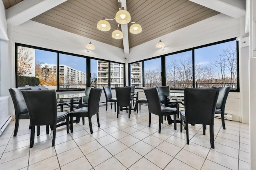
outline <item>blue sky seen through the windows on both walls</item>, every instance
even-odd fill
[[[223,49],[226,49],[228,46],[236,46],[236,41],[229,41],[226,43],[221,43],[217,45],[212,45],[209,47],[204,47],[195,50],[195,61],[201,61],[202,63],[209,63],[210,59],[213,59],[220,53]],[[40,61],[42,64],[57,64],[57,53],[50,51],[43,51],[36,49],[36,61]],[[168,59],[181,59],[184,56],[192,56],[192,51],[187,51],[184,53],[178,53],[166,57],[166,64],[168,64]],[[145,61],[145,70],[147,69],[156,69],[161,68],[161,59],[153,59]],[[60,54],[60,64],[65,64],[76,70],[86,73],[86,58],[76,57],[71,55]],[[97,72],[97,60],[91,60],[91,72]]]

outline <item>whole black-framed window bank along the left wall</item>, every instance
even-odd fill
[[[125,69],[122,63],[19,43],[15,43],[15,49],[16,87],[41,85],[56,90],[81,90],[86,85],[124,86]]]

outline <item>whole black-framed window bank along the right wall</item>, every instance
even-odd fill
[[[130,63],[129,68],[131,85],[137,88],[166,85],[181,90],[184,87],[230,86],[231,92],[239,92],[238,42],[235,38]]]

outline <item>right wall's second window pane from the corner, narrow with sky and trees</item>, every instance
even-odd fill
[[[161,58],[144,61],[145,87],[162,86]]]

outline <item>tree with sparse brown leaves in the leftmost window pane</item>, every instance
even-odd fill
[[[29,48],[18,46],[18,76],[32,74],[32,61],[33,57]]]

